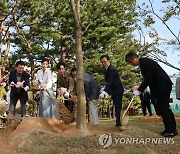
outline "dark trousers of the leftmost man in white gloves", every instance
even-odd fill
[[[23,96],[23,94],[16,94],[13,96],[13,98],[10,98],[9,111],[15,116],[16,104],[18,100],[20,100],[20,105],[21,105],[21,117],[25,117],[27,99]]]

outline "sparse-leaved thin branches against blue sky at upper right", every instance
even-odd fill
[[[147,3],[142,3],[142,5],[137,5],[138,13],[139,13],[139,22],[136,25],[137,30],[139,31],[140,39],[138,41],[141,44],[141,51],[143,51],[143,55],[147,55],[150,58],[164,63],[167,66],[170,66],[176,70],[179,70],[179,67],[176,67],[169,63],[166,60],[166,53],[162,51],[162,46],[166,49],[172,49],[179,51],[180,44],[180,31],[176,33],[173,31],[173,28],[168,25],[168,21],[171,19],[176,19],[177,22],[179,19],[179,2],[174,0],[162,0],[162,5],[160,8],[160,12],[162,15],[159,15],[153,6],[153,2],[148,0]],[[168,40],[167,38],[161,38],[158,35],[158,32],[153,25],[155,23],[155,18],[161,21],[162,26],[164,25],[167,30],[172,34],[174,39]],[[148,31],[148,35],[152,38],[153,42],[146,42],[145,31]]]

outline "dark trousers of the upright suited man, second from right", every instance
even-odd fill
[[[112,96],[112,100],[115,106],[116,126],[121,126],[122,94]]]

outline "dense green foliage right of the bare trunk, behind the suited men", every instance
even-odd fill
[[[135,1],[93,1],[87,4],[83,16],[84,32],[84,66],[102,85],[105,83],[100,56],[109,54],[111,63],[120,72],[126,89],[138,83],[136,74],[124,60],[125,54],[140,49],[140,45],[132,40],[132,32],[136,23]],[[85,7],[83,8],[85,9]],[[88,10],[92,11],[89,12]]]

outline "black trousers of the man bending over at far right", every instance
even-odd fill
[[[176,130],[176,120],[172,110],[169,108],[169,96],[153,98],[155,110],[162,116],[165,131],[173,133]]]

